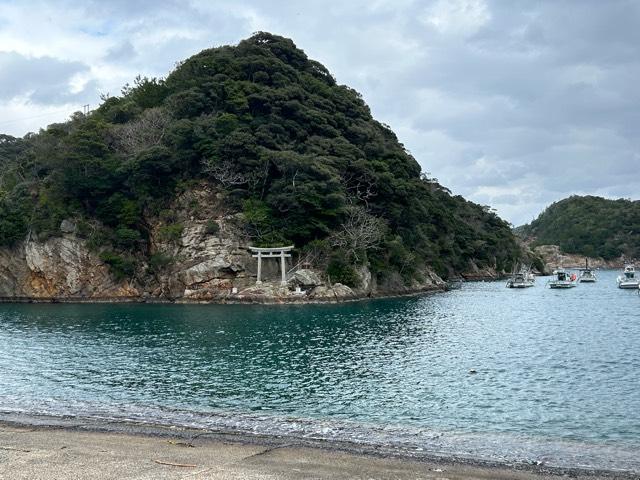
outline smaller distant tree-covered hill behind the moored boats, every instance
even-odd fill
[[[572,196],[550,205],[517,232],[534,245],[558,245],[565,253],[640,258],[640,202]]]

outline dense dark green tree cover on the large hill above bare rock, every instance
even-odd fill
[[[78,235],[120,275],[152,255],[149,219],[206,183],[258,245],[295,244],[349,283],[352,266],[406,281],[510,269],[519,248],[488,207],[421,173],[355,90],[286,38],[204,50],[163,79],[138,78],[88,115],[0,138],[0,244]],[[169,212],[170,213],[170,212]],[[352,281],[352,280],[351,280]]]

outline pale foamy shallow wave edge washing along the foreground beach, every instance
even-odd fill
[[[552,472],[640,473],[637,449],[557,441],[524,435],[434,432],[354,422],[159,410],[92,415],[0,411],[0,423],[143,435],[208,436],[240,443],[312,446],[413,460],[544,468]]]

